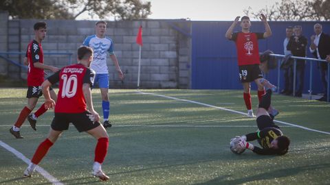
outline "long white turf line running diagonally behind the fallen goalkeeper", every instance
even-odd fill
[[[234,112],[234,113],[237,113],[237,114],[243,114],[245,116],[247,115],[244,112],[239,112],[239,111],[236,111],[236,110],[230,110],[228,108],[221,108],[221,107],[217,107],[217,106],[212,106],[210,104],[201,103],[201,102],[198,102],[198,101],[191,101],[191,100],[188,100],[188,99],[179,99],[179,98],[176,98],[176,97],[168,97],[166,95],[157,95],[155,93],[145,93],[145,92],[142,92],[140,90],[137,90],[136,92],[137,93],[140,93],[142,95],[153,95],[153,96],[156,96],[156,97],[164,97],[164,98],[167,98],[167,99],[175,99],[177,101],[186,101],[188,103],[195,103],[195,104],[199,104],[201,106],[206,106],[206,107],[210,107],[210,108],[216,108],[216,109],[220,109],[220,110],[226,110],[228,112]],[[296,124],[292,124],[292,123],[287,123],[287,122],[284,122],[284,121],[274,120],[274,122],[276,122],[276,123],[282,123],[284,125],[290,125],[290,126],[293,126],[293,127],[298,127],[298,128],[303,129],[303,130],[309,130],[309,131],[313,131],[313,132],[319,132],[319,133],[322,133],[322,134],[329,134],[330,135],[330,132],[324,132],[324,131],[320,131],[320,130],[315,130],[315,129],[311,129],[309,127],[303,127],[303,126],[300,126],[300,125],[296,125]]]

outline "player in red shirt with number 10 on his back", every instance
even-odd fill
[[[36,165],[41,162],[62,132],[69,128],[69,123],[73,123],[78,132],[87,132],[98,140],[95,149],[93,175],[99,177],[100,180],[109,180],[109,177],[101,169],[101,164],[107,156],[109,136],[99,122],[98,112],[93,108],[91,86],[94,83],[95,72],[89,69],[92,60],[93,49],[86,46],[80,47],[78,49],[78,64],[65,66],[43,82],[45,107],[55,107],[55,116],[50,134],[36,149],[28,168],[24,171],[25,177],[31,177]],[[50,97],[49,88],[56,82],[59,82],[59,91],[55,105],[55,101]]]

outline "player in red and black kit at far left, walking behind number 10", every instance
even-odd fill
[[[45,80],[44,69],[48,69],[54,73],[59,70],[55,66],[43,64],[43,48],[41,47],[41,42],[45,38],[46,32],[47,25],[45,22],[38,22],[34,24],[34,40],[29,43],[26,58],[24,59],[24,63],[28,64],[28,92],[26,94],[28,104],[23,108],[23,110],[21,110],[16,123],[10,128],[10,133],[14,135],[15,138],[23,138],[20,134],[21,125],[23,125],[25,119],[35,108],[39,97],[42,95],[41,84]],[[54,90],[50,91],[50,95],[56,100],[56,93]],[[46,111],[47,109],[45,108],[45,104],[43,104],[34,113],[35,120],[30,120],[29,118],[29,122],[33,130],[36,130],[36,117],[41,116],[41,114]]]

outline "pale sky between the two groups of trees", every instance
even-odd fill
[[[153,19],[190,18],[191,21],[232,21],[249,6],[254,12],[280,0],[142,0],[151,1]],[[253,17],[251,17],[254,20]]]

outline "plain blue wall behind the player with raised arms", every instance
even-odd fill
[[[310,36],[314,34],[314,24],[317,22],[289,22],[274,21],[269,22],[272,29],[272,36],[265,40],[259,40],[259,51],[267,49],[277,54],[283,54],[283,40],[285,38],[285,28],[289,25],[301,25],[303,35],[310,42]],[[225,38],[225,32],[232,24],[232,21],[192,22],[192,88],[194,89],[242,89],[239,82],[239,70],[237,66],[236,47],[234,42]],[[330,22],[322,22],[323,32],[330,33]],[[241,31],[237,25],[234,32]],[[261,21],[252,21],[252,32],[265,32],[265,26]],[[310,43],[308,43],[309,47]],[[313,58],[307,47],[307,57]],[[313,93],[321,93],[322,84],[320,75],[316,67],[313,66]],[[309,89],[309,69],[307,63],[305,69],[304,92]],[[277,84],[277,71],[272,70],[267,74],[267,79]],[[280,84],[283,86],[283,71],[281,71]],[[252,83],[252,89],[256,89]]]

